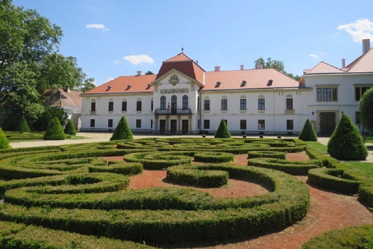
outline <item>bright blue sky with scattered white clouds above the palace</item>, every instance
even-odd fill
[[[181,52],[205,71],[254,68],[282,60],[302,75],[320,61],[341,66],[373,44],[371,0],[13,0],[64,32],[60,53],[74,56],[101,85],[136,71],[157,73]]]

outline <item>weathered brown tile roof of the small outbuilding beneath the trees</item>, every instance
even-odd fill
[[[62,88],[45,89],[43,96],[47,99],[43,104],[47,107],[82,108],[81,93],[80,91],[73,90],[67,92]]]

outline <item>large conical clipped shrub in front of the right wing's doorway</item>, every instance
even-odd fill
[[[342,114],[329,139],[328,152],[338,160],[365,160],[368,156],[367,146],[348,115]]]

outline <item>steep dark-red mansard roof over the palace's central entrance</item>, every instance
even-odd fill
[[[203,83],[204,70],[184,53],[179,53],[170,59],[165,60],[159,69],[156,79],[162,77],[172,69],[176,69],[177,71],[186,74],[190,78]]]

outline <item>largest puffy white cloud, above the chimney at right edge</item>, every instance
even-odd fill
[[[373,22],[367,18],[361,18],[349,24],[339,25],[338,29],[349,33],[354,42],[360,43],[362,39],[373,39]]]

